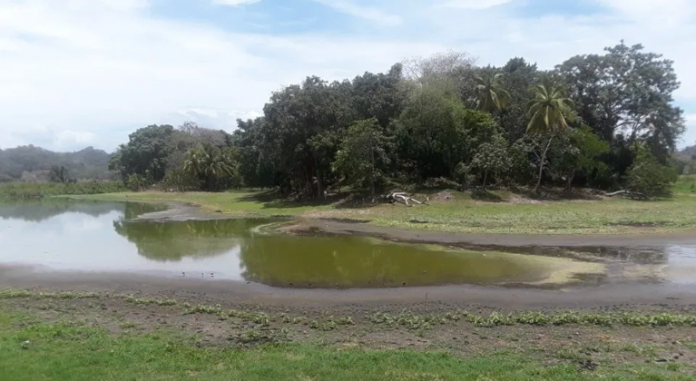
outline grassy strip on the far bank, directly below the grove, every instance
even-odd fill
[[[268,193],[112,193],[86,196],[97,200],[182,202],[237,217],[299,216],[369,221],[381,227],[423,229],[474,234],[645,234],[696,229],[696,193],[689,179],[675,186],[673,198],[634,201],[534,201],[509,191],[491,192],[496,200],[451,191],[454,199],[432,201],[408,208],[389,204],[290,202]],[[490,200],[491,197],[487,197]]]

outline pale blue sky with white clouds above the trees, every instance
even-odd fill
[[[696,0],[0,0],[0,148],[113,151],[149,124],[233,131],[308,75],[465,51],[543,69],[624,39],[675,61],[696,143]]]

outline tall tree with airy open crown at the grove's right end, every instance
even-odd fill
[[[578,115],[612,146],[619,136],[626,147],[647,142],[665,164],[684,132],[683,111],[673,105],[672,94],[679,88],[673,62],[623,41],[605,51],[575,56],[556,67]]]

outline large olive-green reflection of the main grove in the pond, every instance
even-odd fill
[[[353,237],[263,236],[244,240],[240,250],[244,278],[272,286],[309,288],[491,283],[543,277],[542,269],[516,258],[374,244]]]

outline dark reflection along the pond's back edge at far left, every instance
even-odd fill
[[[124,204],[109,202],[75,201],[68,199],[0,205],[0,218],[41,222],[65,213],[81,213],[99,217],[124,210]]]

